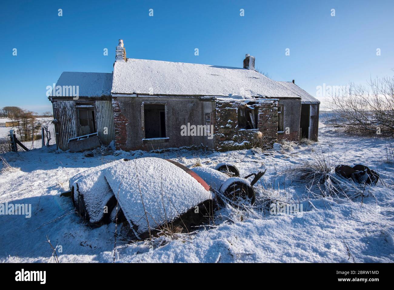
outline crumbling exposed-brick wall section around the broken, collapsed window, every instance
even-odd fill
[[[258,108],[256,129],[238,127],[238,109],[243,106],[246,106],[245,103],[239,101],[216,101],[215,150],[249,149],[255,145],[271,147],[277,140],[278,100],[261,100],[260,104],[254,105]]]

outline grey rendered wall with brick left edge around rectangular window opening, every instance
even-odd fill
[[[143,130],[143,105],[160,103],[165,105],[166,138],[147,139]],[[117,149],[126,151],[151,151],[204,145],[214,147],[214,138],[208,136],[181,136],[182,125],[206,125],[206,113],[214,118],[215,102],[200,100],[199,97],[138,96],[115,97],[112,100]]]

